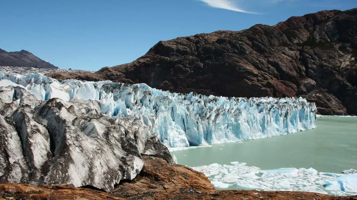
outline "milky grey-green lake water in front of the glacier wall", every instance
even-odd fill
[[[190,167],[213,163],[231,165],[231,162],[238,161],[261,170],[314,168],[318,172],[341,174],[343,170],[357,169],[357,117],[321,117],[317,118],[316,125],[313,130],[177,150],[171,154],[175,154],[178,164]],[[228,172],[231,170],[227,169]],[[215,170],[219,171],[219,168]],[[216,176],[219,175],[222,174]],[[209,178],[214,181],[213,175]],[[233,184],[216,188],[244,189]]]

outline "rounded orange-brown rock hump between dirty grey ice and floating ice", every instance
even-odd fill
[[[169,165],[165,160],[157,157],[144,156],[144,166],[135,180],[121,183],[112,194],[122,198],[149,198],[154,194],[180,193],[180,190],[200,191],[214,190],[210,180],[198,171],[183,165]],[[167,189],[164,188],[167,186]],[[155,195],[155,196],[156,196]],[[165,199],[164,196],[161,198]]]

